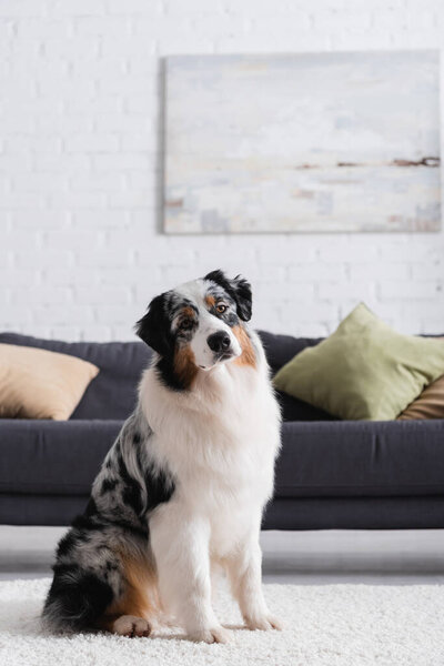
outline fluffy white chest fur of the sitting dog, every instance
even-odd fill
[[[265,362],[259,361],[258,369],[233,363],[200,373],[185,394],[164,389],[154,370],[140,387],[155,456],[176,480],[173,500],[154,519],[202,517],[216,556],[261,519],[273,491],[280,413]]]

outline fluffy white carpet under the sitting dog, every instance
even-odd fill
[[[230,645],[193,644],[172,630],[150,638],[48,636],[39,614],[49,579],[0,584],[4,666],[440,666],[444,586],[266,585],[283,632],[233,630]],[[240,622],[225,593],[222,622]]]

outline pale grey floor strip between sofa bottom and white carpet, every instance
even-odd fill
[[[49,576],[64,528],[0,526],[0,579]],[[266,583],[444,584],[444,529],[263,532]]]

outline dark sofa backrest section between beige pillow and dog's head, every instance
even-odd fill
[[[18,333],[0,333],[0,343],[33,346],[78,356],[100,369],[72,418],[127,418],[151,351],[143,342],[61,342]]]

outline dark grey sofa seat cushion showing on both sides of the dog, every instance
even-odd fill
[[[121,425],[0,421],[0,493],[88,495]],[[284,423],[275,495],[444,495],[443,441],[444,421]]]

